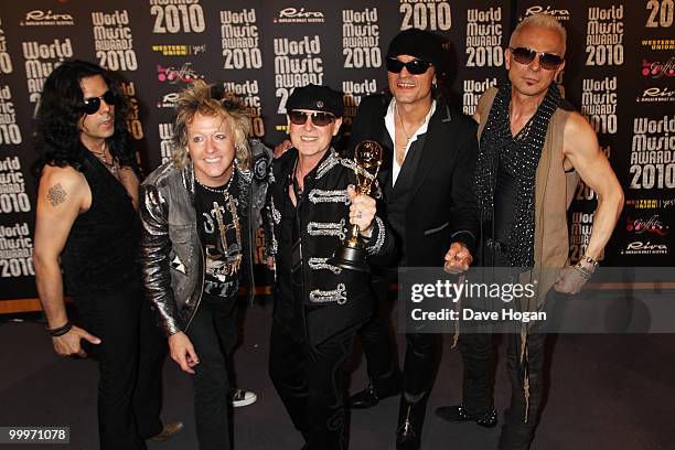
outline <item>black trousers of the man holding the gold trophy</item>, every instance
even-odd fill
[[[354,333],[330,339],[315,349],[272,324],[269,375],[309,450],[345,450],[349,418],[345,407],[345,363]]]

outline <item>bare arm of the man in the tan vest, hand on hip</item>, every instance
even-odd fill
[[[623,191],[600,150],[593,129],[579,114],[572,114],[565,126],[562,152],[566,169],[574,167],[581,180],[598,194],[598,207],[586,249],[586,256],[598,260],[623,208]],[[581,261],[581,265],[593,269],[588,262]],[[560,292],[577,293],[585,281],[572,267],[568,267],[560,274],[555,288]]]

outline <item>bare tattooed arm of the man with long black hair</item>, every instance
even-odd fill
[[[63,326],[68,321],[58,258],[73,223],[90,202],[92,192],[82,173],[73,168],[44,168],[38,191],[33,261],[35,285],[50,329]],[[73,326],[68,333],[53,338],[54,350],[61,355],[84,356],[79,345],[82,338],[97,343],[97,339],[86,331]]]

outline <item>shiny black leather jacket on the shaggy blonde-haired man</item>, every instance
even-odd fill
[[[257,153],[256,154],[256,146]],[[248,270],[248,292],[253,294],[253,233],[265,206],[271,172],[271,154],[254,144],[253,170],[237,170],[239,197],[237,213],[244,233],[243,255]],[[154,170],[141,184],[140,215],[143,225],[141,264],[146,296],[157,311],[165,335],[185,331],[202,298],[204,285],[203,245],[197,233],[194,208],[194,168],[179,169],[169,161]],[[253,218],[251,218],[253,217]],[[271,217],[262,214],[266,256],[276,253]]]

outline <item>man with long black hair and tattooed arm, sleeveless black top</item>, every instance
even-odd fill
[[[56,353],[85,357],[86,346],[96,347],[103,450],[144,449],[144,439],[182,428],[159,418],[167,351],[137,262],[139,182],[127,113],[111,74],[84,61],[52,72],[38,111],[35,282]],[[85,328],[68,319],[64,281]]]

